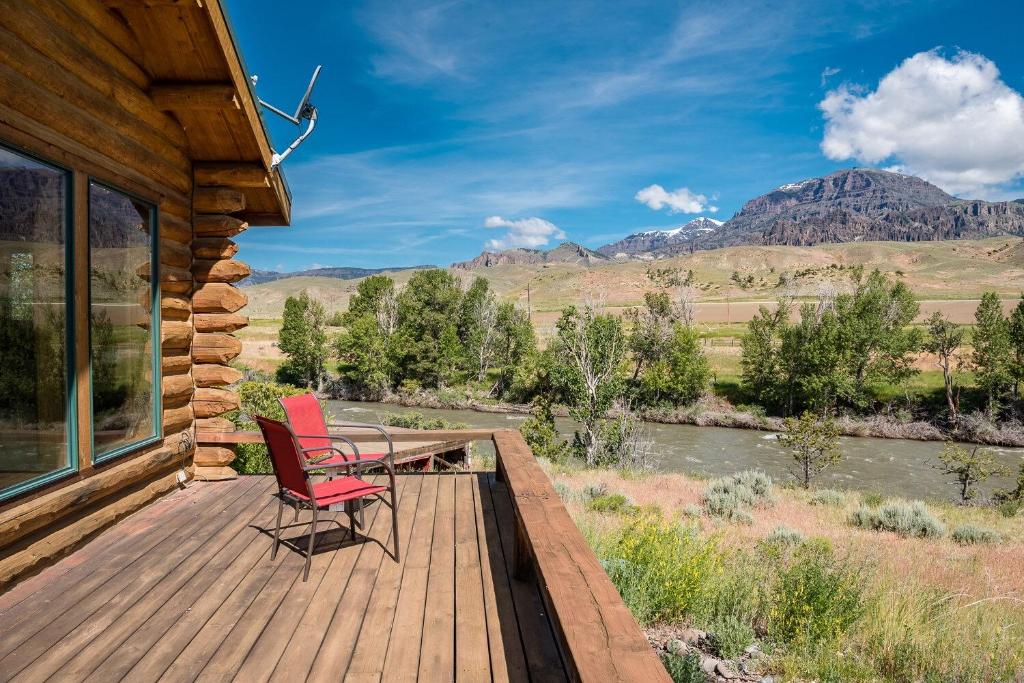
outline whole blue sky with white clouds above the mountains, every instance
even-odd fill
[[[257,268],[597,247],[850,166],[1024,197],[1020,2],[226,5],[264,99],[324,65],[292,227],[239,238]]]

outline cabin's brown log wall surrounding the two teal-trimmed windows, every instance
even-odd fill
[[[195,451],[193,163],[182,126],[151,98],[139,45],[99,3],[0,0],[0,140],[74,174],[80,470],[0,504],[0,587],[173,488]],[[158,207],[164,438],[102,464],[89,433],[89,178]],[[211,245],[212,246],[212,245]],[[211,252],[203,252],[204,263]],[[218,252],[219,254],[220,252]],[[226,282],[220,266],[202,266]],[[237,323],[237,321],[236,321]],[[209,382],[204,376],[204,383]],[[206,384],[204,385],[206,386]]]

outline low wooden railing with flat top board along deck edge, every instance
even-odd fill
[[[369,441],[367,430],[333,432]],[[671,683],[548,475],[518,431],[511,429],[389,430],[394,443],[494,441],[497,476],[515,512],[515,566],[534,578],[547,604],[565,668],[587,683]],[[199,443],[258,443],[258,432],[200,432]]]

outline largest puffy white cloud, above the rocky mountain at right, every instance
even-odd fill
[[[818,106],[829,159],[888,162],[962,196],[997,195],[1024,175],[1024,97],[983,55],[920,52],[873,92],[843,85]]]

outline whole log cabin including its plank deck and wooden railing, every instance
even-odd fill
[[[401,563],[270,558],[232,238],[291,196],[220,0],[0,0],[0,680],[668,680],[518,432],[394,435],[498,460],[399,477]]]

